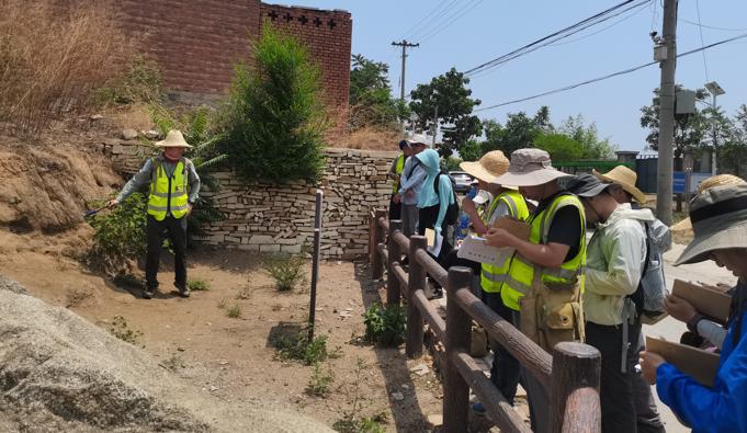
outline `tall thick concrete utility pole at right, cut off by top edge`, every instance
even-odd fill
[[[671,225],[672,172],[675,164],[675,70],[677,68],[677,0],[664,0],[664,46],[659,84],[659,159],[656,189],[656,216]]]

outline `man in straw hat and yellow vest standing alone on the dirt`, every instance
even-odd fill
[[[148,195],[148,247],[145,263],[146,287],[143,297],[150,299],[158,289],[158,264],[161,244],[168,233],[174,253],[176,278],[173,285],[181,297],[189,297],[186,287],[186,216],[200,194],[200,176],[194,164],[184,158],[184,150],[192,148],[179,130],[170,130],[166,139],[156,143],[163,151],[148,158],[137,174],[109,202],[118,205],[127,196],[146,185]]]

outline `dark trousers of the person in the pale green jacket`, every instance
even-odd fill
[[[629,338],[623,349],[623,326],[603,326],[586,322],[586,343],[602,354],[600,402],[603,433],[635,433],[636,412],[633,396],[635,363],[633,352],[638,345],[641,324],[629,324]],[[625,350],[626,373],[622,373]]]

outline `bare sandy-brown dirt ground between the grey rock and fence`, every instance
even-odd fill
[[[398,432],[428,431],[426,418],[441,413],[441,386],[429,357],[408,361],[403,347],[361,342],[361,315],[385,296],[370,281],[366,264],[330,262],[320,267],[317,333],[329,335],[328,349],[338,349],[339,356],[324,363],[333,371],[335,381],[331,395],[319,398],[305,392],[313,367],[275,360],[269,343],[272,333],[304,326],[307,290],[278,293],[249,253],[201,250],[189,258],[189,275],[208,282],[208,292],[181,299],[172,292],[172,273],[162,270],[160,294],[145,300],[138,289],[122,289],[69,257],[87,237],[84,228],[55,236],[0,229],[0,274],[101,327],[110,328],[113,318],[122,316],[128,329],[143,332],[136,344],[161,360],[165,368],[226,401],[288,404],[331,426],[353,411],[358,398],[355,415],[384,412],[386,430]],[[226,315],[234,305],[241,308],[238,319]],[[362,369],[356,367],[359,358]],[[411,372],[421,364],[428,373]]]

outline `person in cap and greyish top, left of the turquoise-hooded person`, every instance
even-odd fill
[[[405,161],[397,195],[401,203],[403,233],[408,238],[418,231],[418,194],[427,174],[416,156],[428,148],[427,141],[428,139],[420,134],[403,140],[410,148],[411,156]]]

